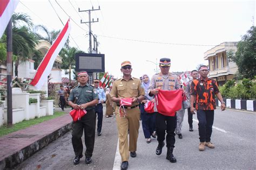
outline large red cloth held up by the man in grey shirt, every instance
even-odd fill
[[[181,109],[183,91],[159,90],[156,95],[157,111],[165,116],[175,116],[175,112]]]

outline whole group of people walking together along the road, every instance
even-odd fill
[[[113,82],[112,88],[105,90],[99,87],[98,79],[93,80],[90,85],[87,72],[79,72],[79,84],[71,90],[68,101],[73,109],[84,110],[86,114],[72,123],[72,145],[75,152],[73,164],[79,164],[80,158],[83,157],[83,131],[86,145],[85,162],[91,162],[96,117],[97,134],[102,135],[103,103],[106,103],[105,117],[114,115],[116,118],[119,152],[122,158],[121,169],[127,169],[129,158],[137,156],[140,119],[146,143],[151,143],[151,137],[157,138],[157,155],[162,153],[166,143],[166,159],[172,163],[177,162],[174,157],[176,134],[179,139],[183,139],[181,127],[186,109],[190,132],[193,132],[193,115],[197,114],[199,151],[204,151],[205,146],[214,148],[211,134],[216,109],[215,95],[221,102],[221,110],[226,107],[217,82],[207,77],[207,66],[200,66],[199,70],[192,70],[192,80],[183,87],[178,76],[170,73],[170,67],[171,59],[162,58],[159,61],[160,73],[153,75],[151,79],[147,74],[137,79],[131,76],[131,62],[124,61],[120,68],[123,76]],[[60,97],[63,95],[62,89],[58,94]],[[172,97],[173,95],[176,97]],[[151,112],[146,111],[149,105],[152,106]]]

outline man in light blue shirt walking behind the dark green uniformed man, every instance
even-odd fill
[[[106,101],[105,91],[102,87],[99,87],[99,80],[93,80],[93,86],[96,88],[98,96],[99,96],[99,103],[96,104],[95,112],[98,116],[98,123],[97,123],[97,133],[98,136],[102,135],[102,120],[103,120],[103,103]]]

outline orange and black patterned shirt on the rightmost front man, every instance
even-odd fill
[[[201,77],[191,83],[191,95],[196,96],[197,110],[216,109],[215,94],[219,93],[217,82],[210,78]]]

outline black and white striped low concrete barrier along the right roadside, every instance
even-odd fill
[[[256,101],[253,100],[240,100],[240,99],[229,99],[229,98],[223,98],[224,102],[226,103],[227,108],[233,108],[233,109],[241,109],[241,110],[248,110],[248,111],[256,111]],[[216,98],[215,102],[220,107],[221,103]]]

